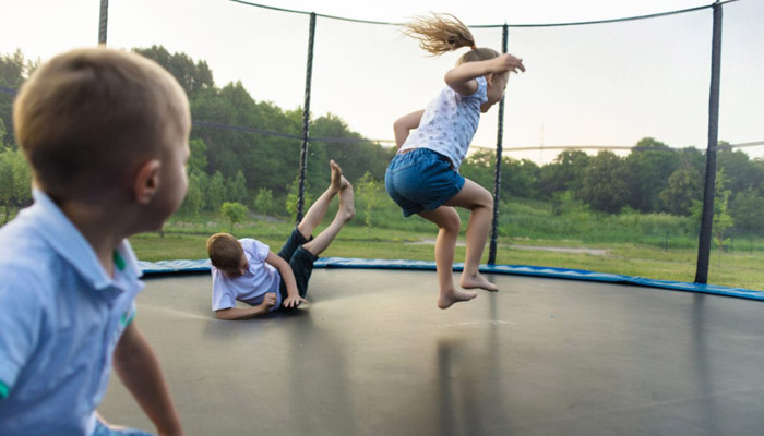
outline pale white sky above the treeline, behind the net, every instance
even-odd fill
[[[230,0],[110,0],[107,45],[163,45],[205,60],[215,82],[241,81],[258,100],[301,107],[308,16]],[[707,5],[711,0],[260,0],[259,3],[359,20],[401,23],[428,11],[469,25],[570,23]],[[46,60],[94,46],[99,0],[0,0],[0,53]],[[764,0],[724,7],[719,138],[764,141]],[[511,27],[509,51],[526,73],[506,89],[503,146],[548,162],[571,145],[633,146],[654,137],[672,147],[707,145],[712,11],[628,23]],[[474,28],[478,46],[501,49],[501,28]],[[311,111],[333,113],[375,140],[423,108],[462,52],[428,57],[397,26],[319,17]],[[484,114],[474,144],[494,147],[498,110]],[[530,152],[512,148],[545,147]],[[764,156],[764,146],[744,148]]]

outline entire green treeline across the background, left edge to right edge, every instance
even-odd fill
[[[191,104],[195,121],[189,164],[191,184],[181,213],[217,211],[224,202],[238,202],[263,214],[293,214],[290,204],[297,192],[300,159],[301,108],[285,110],[268,101],[256,101],[240,82],[219,87],[205,61],[194,61],[184,53],[170,53],[162,46],[135,51],[154,59],[175,75]],[[0,57],[0,86],[17,88],[36,64],[25,60],[19,51]],[[0,129],[0,146],[5,145],[3,153],[9,155],[3,159],[9,161],[12,160],[10,154],[16,149],[10,134],[12,98],[0,93],[0,128],[4,125],[8,131],[3,135]],[[311,119],[310,136],[313,140],[309,145],[306,175],[308,194],[313,197],[329,180],[329,159],[341,162],[349,180],[358,181],[368,172],[366,180],[380,182],[394,153],[365,140],[331,113]],[[490,190],[494,165],[494,154],[481,150],[471,154],[461,171]],[[512,197],[548,199],[554,208],[562,199],[573,199],[609,214],[629,210],[693,216],[700,214],[705,155],[694,147],[676,149],[646,137],[625,157],[612,152],[592,156],[580,150],[564,150],[553,162],[544,166],[505,157],[502,171],[502,201]],[[9,172],[13,173],[1,173]],[[23,181],[23,174],[16,178]],[[4,186],[2,183],[0,189],[5,191]],[[5,199],[13,195],[17,196],[0,194],[0,202],[3,202],[0,206],[8,210],[28,202],[28,198],[15,198],[15,203]],[[764,230],[761,219],[764,161],[750,159],[740,150],[719,152],[716,207],[717,222],[725,221],[728,227],[735,225],[741,230]]]

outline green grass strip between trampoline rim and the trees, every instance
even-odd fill
[[[402,218],[398,218],[402,219]],[[409,225],[408,229],[347,226],[322,257],[360,257],[385,259],[434,261],[433,246],[410,242],[434,239],[437,230],[422,221]],[[464,220],[466,222],[466,220]],[[420,225],[425,230],[418,230]],[[277,252],[294,225],[289,221],[250,221],[234,229],[237,238],[252,237],[271,245]],[[415,228],[415,230],[409,230]],[[131,238],[139,258],[143,261],[200,259],[206,258],[205,241],[217,231],[228,231],[223,222],[205,217],[198,222],[175,219],[165,227],[165,235],[144,233]],[[319,229],[320,231],[321,229]],[[464,240],[464,234],[461,241]],[[588,247],[606,250],[607,254],[558,253],[541,250],[517,250],[512,245]],[[456,247],[456,262],[464,259],[465,249]],[[536,265],[559,268],[586,269],[599,272],[622,274],[653,279],[694,281],[695,247],[658,247],[633,242],[589,243],[575,239],[532,239],[502,237],[497,251],[498,264]],[[484,263],[488,259],[488,249]],[[709,283],[736,288],[764,290],[764,271],[761,268],[764,253],[724,253],[713,251],[709,267]]]

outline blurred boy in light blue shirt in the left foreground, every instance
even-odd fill
[[[182,435],[126,238],[186,195],[186,95],[135,53],[74,50],[29,77],[13,119],[35,202],[0,229],[0,434],[145,435],[96,412],[114,364],[158,433]]]

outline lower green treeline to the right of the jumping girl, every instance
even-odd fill
[[[462,173],[490,187],[494,165],[492,152],[479,152],[465,162]],[[501,184],[509,197],[549,199],[552,206],[561,198],[573,198],[609,214],[666,213],[700,222],[704,178],[704,153],[694,147],[670,148],[647,137],[625,157],[607,150],[595,156],[564,150],[542,167],[504,158]],[[728,227],[764,230],[764,160],[750,159],[741,150],[718,152],[715,208],[717,225],[729,218]]]

